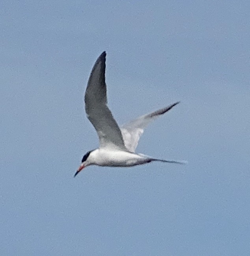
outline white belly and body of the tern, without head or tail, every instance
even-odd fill
[[[95,152],[95,164],[99,166],[134,166],[147,163],[147,158],[126,151],[108,151],[97,149]]]

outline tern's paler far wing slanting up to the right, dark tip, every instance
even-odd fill
[[[134,152],[138,141],[140,139],[140,136],[144,132],[144,129],[149,125],[149,123],[153,120],[155,120],[158,116],[166,113],[168,110],[170,110],[172,107],[177,105],[179,102],[176,102],[168,107],[161,108],[159,110],[156,110],[155,112],[152,112],[150,114],[146,114],[143,116],[140,116],[129,123],[126,123],[125,125],[121,126],[121,133],[123,136],[123,141],[125,144],[125,147],[131,151]]]

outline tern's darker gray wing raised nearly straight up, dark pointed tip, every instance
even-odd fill
[[[105,84],[106,52],[103,52],[91,71],[85,92],[85,110],[99,136],[100,148],[127,150],[121,131],[107,107]]]

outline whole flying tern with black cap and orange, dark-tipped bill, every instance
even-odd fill
[[[140,116],[119,127],[107,106],[105,62],[106,52],[104,51],[93,66],[85,92],[86,115],[97,131],[99,148],[88,151],[82,157],[82,163],[75,176],[89,165],[128,167],[152,161],[185,163],[184,161],[162,160],[135,153],[140,136],[146,126],[179,102]]]

